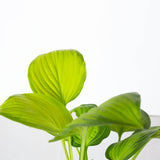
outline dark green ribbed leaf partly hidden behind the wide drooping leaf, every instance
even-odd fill
[[[74,108],[71,112],[75,112],[77,117],[83,113],[88,112],[90,109],[97,107],[95,104],[83,104],[79,107]],[[77,135],[72,136],[72,145],[74,147],[80,147],[82,143],[82,134],[85,131],[86,127],[81,127],[81,132]],[[94,146],[101,143],[101,141],[108,137],[110,133],[110,127],[106,126],[91,126],[87,127],[86,132],[86,147]]]

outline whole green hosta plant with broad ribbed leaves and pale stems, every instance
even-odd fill
[[[150,117],[140,108],[136,92],[115,96],[100,106],[82,104],[72,110],[67,106],[86,79],[85,61],[76,50],[39,55],[29,65],[28,79],[33,93],[9,97],[0,106],[0,115],[48,132],[53,135],[49,142],[61,140],[67,160],[74,159],[73,148],[79,160],[87,160],[88,147],[100,144],[110,131],[119,138],[106,146],[109,160],[134,160],[152,138],[160,138],[160,126],[150,127]],[[133,134],[121,139],[128,131]]]

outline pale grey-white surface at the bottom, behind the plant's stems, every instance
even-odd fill
[[[151,118],[152,126],[160,126],[160,116]],[[48,143],[49,134],[0,118],[0,159],[2,160],[65,160],[60,142]],[[131,133],[125,133],[125,136]],[[117,134],[112,132],[99,146],[88,149],[89,160],[106,160],[104,153],[112,143],[117,142]],[[141,151],[137,160],[159,160],[160,139],[152,139]],[[75,160],[78,160],[76,151]]]

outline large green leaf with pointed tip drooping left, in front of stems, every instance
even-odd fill
[[[76,134],[80,126],[111,126],[127,128],[128,131],[143,129],[140,111],[140,95],[126,93],[113,97],[82,114],[78,119],[67,125],[54,139],[59,140]]]

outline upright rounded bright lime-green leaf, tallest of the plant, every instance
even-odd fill
[[[53,51],[32,61],[28,78],[33,92],[50,95],[67,104],[81,92],[86,65],[76,50]]]

